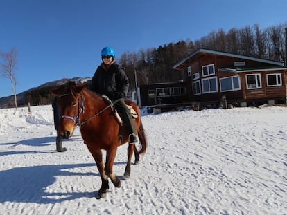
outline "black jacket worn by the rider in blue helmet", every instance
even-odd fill
[[[101,64],[92,78],[92,91],[107,95],[110,100],[126,97],[128,86],[128,77],[123,68],[117,64],[112,64],[108,68]]]

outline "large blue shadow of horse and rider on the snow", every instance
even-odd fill
[[[59,203],[76,198],[92,198],[96,191],[46,192],[46,187],[56,182],[56,176],[99,176],[94,172],[71,172],[67,169],[95,167],[94,163],[72,165],[42,165],[35,167],[15,167],[0,171],[0,203],[6,201],[18,203]],[[98,180],[98,178],[95,178]],[[60,186],[59,186],[60,187]],[[60,188],[59,188],[60,189]]]

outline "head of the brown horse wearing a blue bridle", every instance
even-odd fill
[[[73,135],[73,129],[78,124],[83,109],[81,92],[85,86],[86,84],[69,81],[51,90],[57,95],[57,104],[60,110],[58,133],[62,138],[70,138]]]

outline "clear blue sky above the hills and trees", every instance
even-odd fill
[[[120,57],[220,28],[264,29],[287,21],[286,0],[0,0],[0,6],[0,50],[18,50],[17,93],[91,77],[105,46]],[[7,95],[10,81],[0,76],[0,97]]]

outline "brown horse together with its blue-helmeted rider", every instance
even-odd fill
[[[119,177],[113,171],[117,147],[126,142],[130,143],[128,162],[124,172],[125,178],[130,176],[133,153],[135,153],[135,162],[138,163],[139,155],[145,153],[147,149],[139,106],[131,100],[123,99],[128,93],[128,77],[123,68],[115,64],[113,48],[105,47],[101,54],[103,64],[98,66],[92,79],[92,91],[96,93],[85,88],[85,84],[77,85],[75,82],[68,82],[52,91],[58,95],[60,106],[59,134],[62,138],[70,138],[73,135],[73,129],[78,125],[82,139],[96,161],[102,180],[96,198],[105,198],[107,189],[109,189],[108,178],[115,187],[121,186]],[[114,102],[107,103],[104,95]],[[132,118],[127,104],[132,106],[137,113],[137,118]],[[113,105],[121,111],[125,126],[122,126],[116,119]],[[139,151],[136,149],[135,142],[139,142]],[[105,163],[102,149],[107,151]]]

